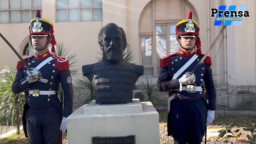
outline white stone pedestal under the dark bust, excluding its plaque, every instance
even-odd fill
[[[69,144],[92,144],[92,137],[128,135],[135,135],[136,144],[159,144],[159,115],[151,102],[132,99],[129,104],[95,105],[92,101],[67,121]]]

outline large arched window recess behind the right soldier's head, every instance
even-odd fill
[[[187,0],[152,0],[145,6],[139,20],[144,76],[158,76],[160,58],[179,50],[175,25],[186,19],[189,11],[199,24],[197,12]]]

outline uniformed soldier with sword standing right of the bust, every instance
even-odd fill
[[[168,135],[174,138],[175,144],[200,144],[205,125],[212,123],[216,109],[211,58],[207,56],[190,75],[189,72],[203,57],[199,28],[192,20],[191,12],[188,19],[176,24],[175,30],[181,48],[177,53],[160,59],[157,88],[159,91],[169,91]],[[196,53],[193,50],[195,46]]]

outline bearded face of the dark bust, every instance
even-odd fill
[[[117,63],[123,57],[123,39],[119,28],[107,28],[102,33],[101,49],[105,58],[111,63]]]

